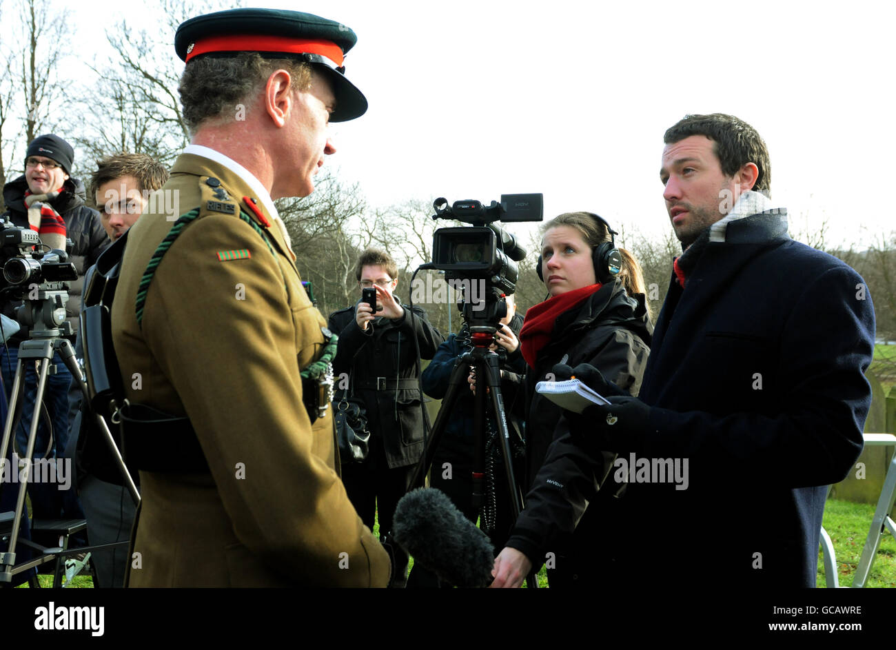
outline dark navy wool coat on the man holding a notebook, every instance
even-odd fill
[[[789,238],[782,211],[731,221],[724,239],[706,242],[684,289],[673,275],[639,395],[648,426],[617,446],[651,464],[688,459],[687,487],[627,484],[605,530],[621,537],[608,580],[814,586],[827,485],[861,452],[874,350],[865,282]],[[574,447],[568,432],[556,445]],[[588,468],[606,467],[555,452],[574,476],[564,498],[539,476],[538,510],[569,531],[593,494]]]

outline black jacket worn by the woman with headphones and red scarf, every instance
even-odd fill
[[[629,296],[622,282],[607,284],[557,319],[555,335],[539,352],[537,367],[526,374],[526,484],[531,490],[507,546],[521,550],[539,566],[545,553],[552,552],[556,560],[556,572],[550,576],[553,586],[568,585],[568,581],[588,575],[595,557],[598,563],[607,561],[603,538],[608,522],[620,507],[616,494],[620,490],[599,490],[616,455],[585,456],[568,436],[562,435],[565,429],[561,422],[565,420],[561,420],[560,407],[537,393],[535,385],[565,358],[563,362],[573,368],[590,363],[607,381],[638,394],[651,354],[652,330],[643,294]],[[556,438],[563,440],[554,442]],[[573,481],[583,472],[581,467],[587,468],[588,500],[579,502],[572,512],[565,500],[563,507],[556,507],[558,493],[550,486],[581,490]],[[553,482],[548,484],[547,480]],[[546,486],[547,495],[542,493]],[[566,496],[564,492],[559,494]],[[592,504],[586,511],[589,501]]]

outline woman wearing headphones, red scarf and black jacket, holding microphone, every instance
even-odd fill
[[[653,327],[645,306],[641,267],[627,251],[616,248],[615,234],[606,221],[590,212],[561,214],[545,226],[537,271],[550,295],[526,312],[520,333],[522,356],[529,366],[525,377],[527,475],[522,481],[526,488],[537,487],[536,476],[561,416],[559,406],[535,391],[539,381],[567,378],[553,376],[556,364],[574,368],[588,363],[608,382],[633,395],[641,386]],[[614,458],[607,454],[589,462],[604,467],[606,479]],[[548,490],[574,489],[565,485],[565,462],[575,461],[552,460],[550,477],[539,476],[538,481],[554,486]],[[514,548],[505,548],[495,564],[499,568],[507,563],[499,578],[525,576],[530,566],[538,569],[547,560],[552,587],[589,583],[606,561],[601,556],[612,554],[606,522],[618,507],[619,486],[607,481],[606,487],[598,491],[577,526],[555,521],[549,507],[527,507],[507,542]],[[604,525],[599,528],[600,524]]]

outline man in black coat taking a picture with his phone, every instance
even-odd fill
[[[329,327],[340,337],[333,374],[349,376],[349,393],[365,403],[371,435],[363,462],[341,458],[342,482],[371,529],[378,515],[382,537],[391,530],[395,506],[423,455],[417,349],[421,359],[432,359],[444,337],[423,309],[415,307],[411,315],[411,308],[394,295],[398,267],[388,253],[365,250],[355,264],[355,277],[359,291],[376,291],[376,311],[360,301],[330,315]],[[337,386],[344,383],[337,380]],[[401,585],[408,556],[398,547],[394,550],[393,579]]]

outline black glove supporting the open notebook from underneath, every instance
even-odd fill
[[[650,426],[650,406],[631,395],[611,395],[607,401],[609,404],[595,404],[582,413],[564,410],[573,438],[590,450],[640,450]]]

